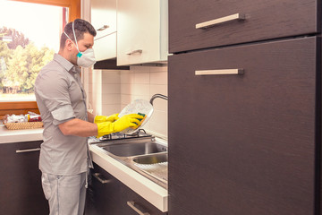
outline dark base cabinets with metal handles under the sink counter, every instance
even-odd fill
[[[166,214],[94,163],[94,169],[91,169],[89,176],[85,214],[138,215],[138,212],[131,209],[128,203],[134,204],[143,213]]]

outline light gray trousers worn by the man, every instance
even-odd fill
[[[57,176],[42,173],[41,182],[49,202],[49,215],[83,215],[87,173]]]

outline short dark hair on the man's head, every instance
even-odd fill
[[[89,22],[81,19],[76,19],[73,22],[74,22],[74,30],[75,30],[77,41],[79,41],[80,39],[84,39],[84,33],[89,33],[94,37],[97,35],[96,30]],[[70,39],[72,39],[74,43],[76,43],[74,39],[74,34],[72,32],[72,22],[69,22],[68,24],[66,24],[66,26],[64,27],[64,32],[70,37]],[[64,34],[64,32],[62,33],[61,41],[60,41],[61,48],[64,48],[66,39],[68,39],[67,36]]]

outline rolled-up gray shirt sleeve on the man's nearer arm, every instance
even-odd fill
[[[42,73],[37,82],[38,98],[53,116],[54,125],[75,118],[69,93],[70,81],[66,75],[50,70]]]

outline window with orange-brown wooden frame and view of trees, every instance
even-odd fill
[[[38,112],[34,81],[64,25],[80,18],[80,0],[0,0],[0,8],[0,118]]]

